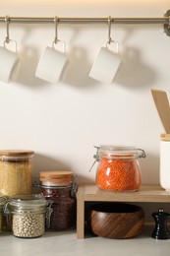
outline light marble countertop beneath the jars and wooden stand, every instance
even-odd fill
[[[6,232],[0,234],[0,256],[169,256],[170,239],[154,239],[151,230],[152,227],[146,226],[139,236],[131,239],[89,236],[77,239],[76,230],[45,232],[38,238],[23,239]]]

